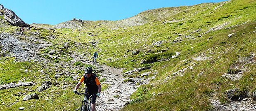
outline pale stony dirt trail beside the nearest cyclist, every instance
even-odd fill
[[[100,66],[105,71],[100,73],[100,79],[105,78],[101,84],[108,84],[108,88],[103,90],[100,97],[96,99],[97,111],[117,111],[127,102],[130,102],[130,95],[137,90],[139,86],[135,84],[140,82],[141,78],[132,78],[135,82],[123,83],[123,69],[116,69],[107,65]]]

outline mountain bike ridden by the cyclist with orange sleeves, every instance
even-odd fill
[[[90,95],[90,94],[88,94],[88,92],[87,92],[87,94],[76,92],[76,94],[78,94],[78,95],[83,94],[84,95],[80,111],[91,111],[92,97],[97,97],[97,95]],[[86,97],[88,95],[90,96],[89,100]]]

